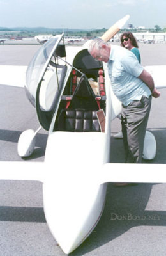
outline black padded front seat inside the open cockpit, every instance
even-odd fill
[[[62,97],[61,102],[63,98],[65,97]],[[100,132],[100,125],[98,124],[98,118],[96,116],[97,110],[98,104],[96,103],[94,92],[87,81],[87,77],[83,74],[71,97],[69,107],[67,107],[67,109],[59,109],[55,130]]]

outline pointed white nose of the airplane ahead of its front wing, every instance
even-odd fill
[[[73,252],[93,231],[105,202],[106,186],[85,183],[79,180],[78,169],[77,173],[73,177],[72,173],[62,171],[61,179],[55,175],[55,181],[46,180],[43,184],[45,218],[66,254]]]

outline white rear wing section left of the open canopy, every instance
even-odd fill
[[[26,84],[27,66],[0,65],[0,84],[24,87]]]

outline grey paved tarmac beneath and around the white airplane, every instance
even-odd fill
[[[0,65],[28,65],[39,47],[0,45]],[[139,44],[139,49],[142,65],[166,65],[166,44]],[[157,154],[151,161],[144,160],[147,168],[156,164],[156,172],[158,164],[166,163],[166,90],[160,92],[161,97],[153,99],[147,124],[155,135]],[[0,99],[0,161],[11,161],[11,168],[12,161],[44,161],[47,131],[43,129],[37,135],[33,156],[22,159],[17,154],[21,132],[40,126],[24,88],[1,84]],[[120,120],[116,118],[112,122],[112,163],[124,161],[123,141],[113,138],[120,130]],[[117,188],[109,183],[98,225],[70,255],[165,256],[165,197],[165,184]],[[45,222],[41,182],[0,180],[0,202],[0,256],[64,255]]]

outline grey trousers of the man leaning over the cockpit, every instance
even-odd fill
[[[151,96],[142,96],[128,106],[122,106],[121,125],[125,163],[141,163],[146,126],[151,109]]]

